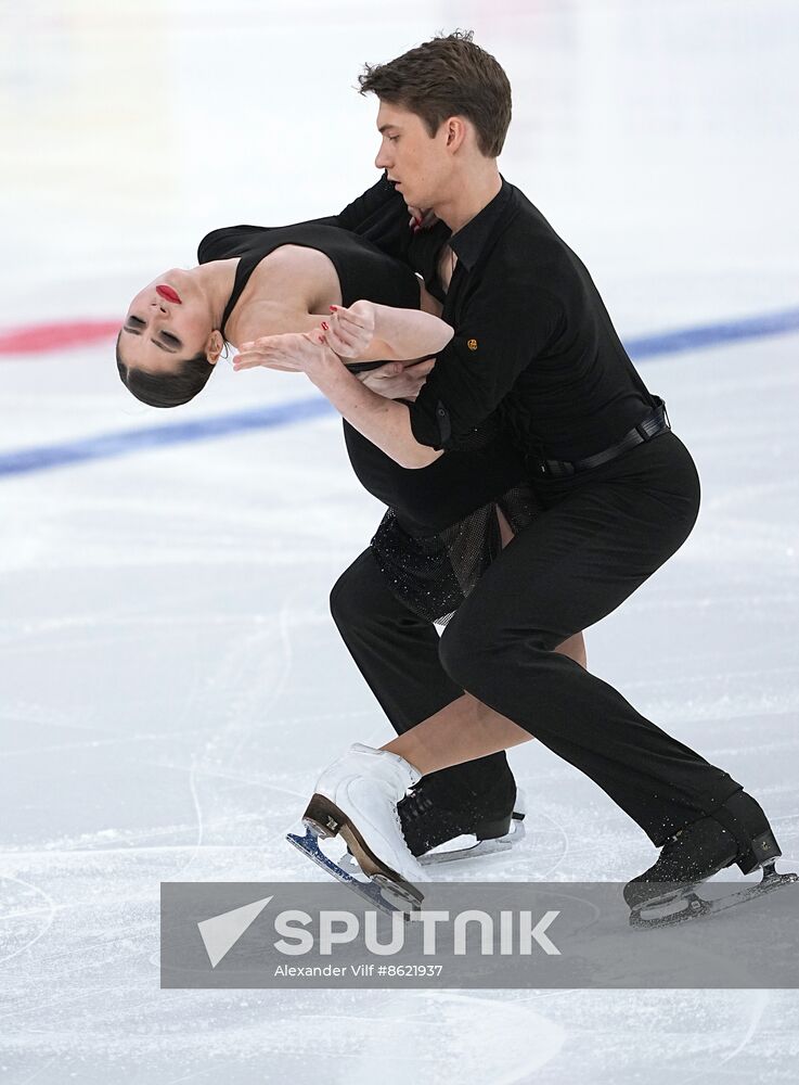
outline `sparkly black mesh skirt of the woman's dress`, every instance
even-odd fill
[[[372,552],[391,590],[415,614],[446,625],[502,549],[498,508],[514,535],[539,510],[532,489],[514,486],[436,535],[410,535],[390,509],[372,539]]]

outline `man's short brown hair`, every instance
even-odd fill
[[[358,77],[360,92],[415,113],[430,137],[447,117],[466,117],[477,130],[482,154],[495,158],[511,124],[511,84],[473,36],[473,30],[454,30],[387,64],[366,64]]]

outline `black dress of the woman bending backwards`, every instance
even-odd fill
[[[286,227],[235,226],[209,233],[197,259],[240,257],[224,324],[260,261],[281,245],[314,248],[338,275],[345,306],[359,298],[418,308],[416,276],[363,237],[318,219]],[[536,510],[521,458],[487,419],[429,467],[401,468],[348,422],[344,436],[362,486],[388,507],[371,546],[392,590],[415,613],[444,623],[499,552],[499,506],[514,532]]]

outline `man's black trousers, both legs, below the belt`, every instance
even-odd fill
[[[440,640],[392,601],[369,551],[336,584],[334,618],[398,732],[467,690],[594,780],[659,846],[740,784],[553,649],[614,611],[684,542],[699,508],[694,462],[667,432],[537,490],[544,511]],[[480,791],[508,769],[494,755],[446,773]]]

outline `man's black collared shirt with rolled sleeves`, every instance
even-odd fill
[[[576,460],[652,410],[588,270],[504,179],[455,234],[443,222],[413,233],[385,177],[335,221],[403,259],[439,297],[441,246],[458,256],[442,312],[455,334],[409,406],[420,444],[456,448],[495,414],[520,452]]]

